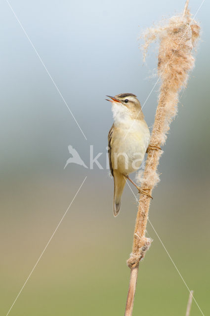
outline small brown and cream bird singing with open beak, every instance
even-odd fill
[[[150,131],[135,94],[122,93],[108,97],[111,98],[107,101],[112,102],[114,118],[108,144],[110,171],[114,177],[113,211],[117,216],[126,179],[132,182],[128,175],[140,167],[150,142]]]

